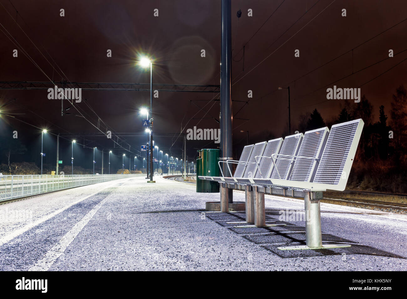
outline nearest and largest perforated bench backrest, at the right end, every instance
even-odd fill
[[[345,190],[363,124],[358,119],[332,126],[314,183],[338,185],[335,190]]]

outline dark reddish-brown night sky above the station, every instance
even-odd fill
[[[8,0],[0,2],[13,16],[12,19],[4,7],[0,6],[2,26],[55,81],[66,79],[71,82],[148,83],[149,72],[134,65],[138,53],[144,52],[156,58],[153,66],[154,83],[219,84],[219,0],[12,0],[11,3],[19,13],[18,24],[42,54],[51,63],[53,59],[63,73],[56,65],[53,70],[53,66],[44,59],[28,37],[20,28],[16,28],[16,12],[12,4]],[[352,74],[352,69],[355,74],[335,85],[361,87],[361,94],[374,106],[375,120],[380,105],[385,106],[389,115],[392,94],[399,85],[407,85],[406,62],[370,83],[363,83],[403,61],[407,58],[407,51],[358,71],[387,58],[389,49],[393,49],[395,54],[407,49],[407,21],[362,46],[357,46],[403,21],[407,17],[405,0],[332,2],[333,0],[232,0],[232,48],[235,60],[242,57],[245,45],[244,71],[243,59],[232,63],[232,99],[246,101],[247,90],[253,91],[249,104],[235,116],[250,121],[234,119],[233,122],[236,147],[239,148],[245,142],[245,133],[240,130],[250,132],[251,142],[260,142],[263,139],[256,136],[256,131],[271,131],[280,137],[286,129],[287,91],[277,90],[279,86],[289,85],[291,88],[291,120],[294,130],[300,114],[314,108],[321,112],[325,120],[336,116],[343,100],[326,101],[326,88],[333,87],[334,84],[326,85]],[[61,8],[65,9],[65,17],[59,16]],[[159,17],[153,16],[156,8],[159,9]],[[239,9],[243,13],[238,21],[236,11]],[[253,10],[253,17],[247,16],[247,9]],[[346,17],[341,16],[342,9],[347,10]],[[296,23],[290,28],[294,22]],[[265,24],[262,26],[263,23]],[[3,27],[0,28],[5,31]],[[288,28],[290,29],[285,32]],[[48,81],[21,51],[18,58],[12,57],[16,46],[1,32],[0,45],[0,81]],[[352,48],[353,59],[352,52],[349,52],[298,79]],[[112,50],[112,58],[106,57],[107,49]],[[206,50],[205,58],[200,57],[201,49]],[[300,57],[294,57],[295,49],[300,50]],[[318,90],[313,92],[316,89]],[[37,127],[46,127],[53,133],[96,131],[89,122],[79,117],[61,117],[60,100],[48,100],[47,95],[46,90],[0,90],[0,104],[17,98],[4,112],[26,113],[16,117]],[[219,101],[206,101],[214,96],[216,95],[208,93],[161,92],[159,98],[153,102],[155,132],[179,132],[181,121],[184,119],[185,125],[199,111],[195,105],[190,104],[190,100],[199,100],[195,103],[201,107],[208,104],[205,110],[208,109],[210,115],[219,118]],[[96,113],[115,132],[144,131],[140,125],[142,117],[138,109],[149,107],[149,92],[83,91],[82,98],[88,99]],[[77,105],[91,114],[84,103]],[[234,113],[242,105],[241,102],[234,102]],[[195,118],[203,116],[201,111]],[[190,120],[187,128],[192,128],[198,122],[199,119]],[[11,134],[11,131],[18,129],[19,137],[36,142],[36,146],[38,140],[40,142],[39,130],[22,125],[17,120],[2,116],[0,127],[3,134]],[[219,124],[213,119],[203,119],[198,127],[218,128]],[[95,139],[95,144],[105,148],[112,147],[112,142],[105,139]],[[128,141],[139,149],[145,139],[143,135],[140,138],[129,138]],[[168,148],[171,138],[155,138],[155,142],[170,153]],[[181,142],[179,138],[171,149],[172,155],[180,157]],[[189,142],[188,155],[194,155],[194,148],[202,146],[215,145],[208,144],[208,141]]]

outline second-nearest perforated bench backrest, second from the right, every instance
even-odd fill
[[[319,165],[318,160],[302,157],[320,159],[328,139],[328,133],[328,127],[305,132],[300,151],[298,151],[299,157],[295,158],[293,171],[289,177],[290,181],[310,182],[314,179]]]

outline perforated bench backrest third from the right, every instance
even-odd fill
[[[285,137],[281,146],[280,155],[296,156],[298,154],[298,150],[300,149],[302,138],[304,138],[304,134],[302,133]],[[271,173],[271,178],[278,179],[278,175],[280,175],[281,179],[287,179],[287,177],[289,177],[291,174],[291,170],[293,169],[293,161],[294,158],[277,156],[276,167],[278,173],[274,168],[273,172]]]

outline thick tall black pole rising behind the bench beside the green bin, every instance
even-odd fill
[[[232,98],[230,85],[230,63],[232,54],[231,0],[222,0],[222,49],[221,49],[221,161],[233,159],[232,156]],[[223,164],[223,173],[227,167]],[[229,174],[230,175],[230,174]],[[221,185],[221,212],[228,212],[233,203],[233,190]]]

